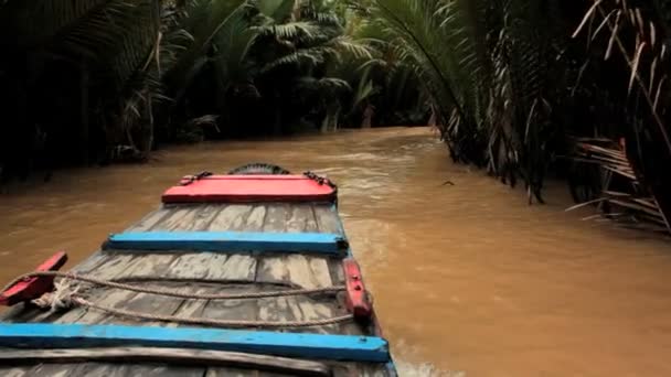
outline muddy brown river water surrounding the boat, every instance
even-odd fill
[[[340,186],[345,230],[402,376],[671,376],[671,243],[565,213],[452,164],[430,129],[170,148],[0,195],[0,280],[72,266],[178,177],[252,161]],[[446,181],[455,185],[444,185]]]

